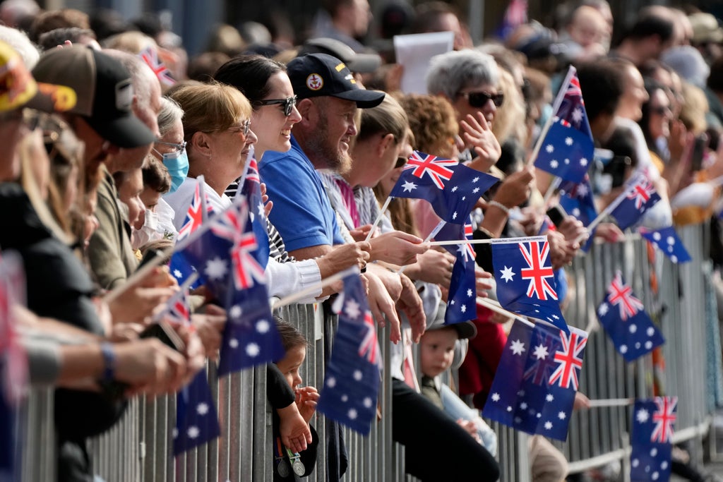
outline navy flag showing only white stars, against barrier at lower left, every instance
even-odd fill
[[[201,370],[176,395],[174,455],[205,444],[221,435],[218,413],[211,396],[206,371]]]

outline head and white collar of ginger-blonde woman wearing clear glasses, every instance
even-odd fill
[[[171,94],[184,110],[183,130],[188,152],[186,180],[166,202],[174,208],[174,225],[180,229],[196,189],[196,178],[203,176],[208,205],[221,212],[231,205],[223,193],[228,184],[241,176],[249,150],[256,142],[251,131],[251,106],[238,90],[228,85],[187,85]]]

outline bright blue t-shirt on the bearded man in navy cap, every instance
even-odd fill
[[[264,153],[259,174],[273,201],[269,218],[288,251],[344,243],[321,179],[293,136],[288,152]]]

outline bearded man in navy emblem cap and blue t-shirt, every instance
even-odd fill
[[[297,57],[288,77],[299,98],[301,121],[291,150],[266,152],[259,172],[273,201],[271,222],[296,259],[322,256],[343,244],[336,218],[316,169],[343,172],[351,165],[357,108],[378,106],[384,92],[363,90],[343,62],[324,53]]]

